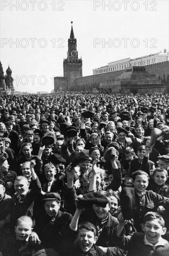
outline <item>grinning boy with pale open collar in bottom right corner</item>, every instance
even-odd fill
[[[125,225],[124,221],[120,223]],[[130,256],[168,256],[169,242],[162,238],[166,233],[164,224],[161,215],[148,212],[142,223],[144,233],[135,232],[132,236],[124,236],[121,248],[126,249]]]

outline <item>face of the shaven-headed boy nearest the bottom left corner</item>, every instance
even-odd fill
[[[25,241],[29,238],[32,232],[32,223],[28,221],[21,221],[19,225],[15,227],[16,239],[20,241]]]

